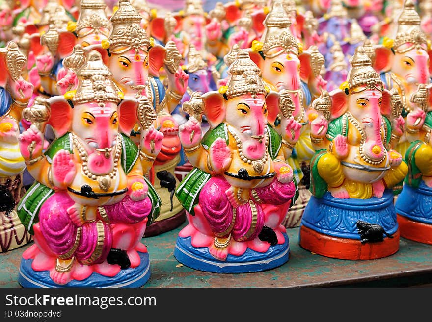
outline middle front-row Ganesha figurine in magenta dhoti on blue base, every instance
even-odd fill
[[[193,93],[183,104],[190,117],[179,136],[195,168],[176,191],[189,225],[179,234],[174,256],[197,270],[256,272],[288,260],[288,236],[280,223],[296,185],[281,141],[290,134],[281,137],[268,125],[279,112],[279,95],[269,92],[259,71],[240,50],[227,86]],[[211,127],[204,137],[202,113]]]

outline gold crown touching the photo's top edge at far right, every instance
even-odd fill
[[[393,50],[404,53],[413,48],[427,49],[428,39],[420,27],[420,16],[415,10],[414,3],[406,0],[398,19],[398,30],[393,43]]]

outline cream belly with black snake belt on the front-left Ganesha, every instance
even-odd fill
[[[109,178],[109,174],[108,174]],[[81,196],[79,194],[76,194],[74,192],[71,192],[71,189],[73,189],[76,192],[81,192],[81,187],[84,185],[88,185],[91,187],[91,190],[93,193],[98,194],[98,198],[92,198]],[[125,190],[123,193],[119,195],[112,196],[113,193],[119,193],[125,188],[127,188],[127,177],[124,173],[123,169],[119,166],[117,174],[114,178],[110,180],[110,185],[107,191],[104,191],[99,186],[98,180],[92,180],[89,179],[87,176],[85,176],[82,171],[78,171],[77,176],[75,177],[74,181],[72,182],[71,186],[68,189],[69,196],[74,200],[76,203],[81,204],[83,206],[102,206],[102,205],[110,205],[117,202],[120,202],[126,195],[127,190]],[[107,194],[107,197],[104,197],[100,194]]]

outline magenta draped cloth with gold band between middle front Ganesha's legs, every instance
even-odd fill
[[[236,208],[236,222],[233,238],[243,242],[255,239],[264,227],[264,212],[259,204],[252,200]]]

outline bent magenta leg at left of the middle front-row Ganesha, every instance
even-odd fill
[[[228,235],[233,227],[233,207],[225,194],[230,187],[224,178],[216,176],[204,185],[199,194],[203,215],[214,234],[219,237]]]

